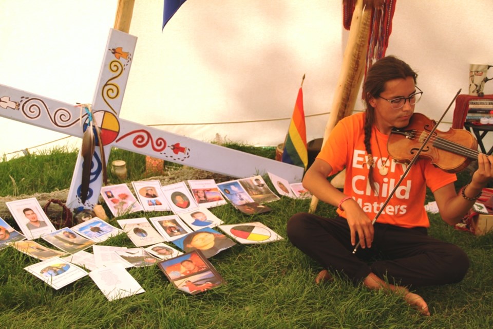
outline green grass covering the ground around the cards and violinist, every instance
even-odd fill
[[[273,154],[268,156],[273,157]],[[77,152],[54,150],[50,154],[2,161],[0,195],[12,195],[15,190],[9,175],[16,182],[18,194],[66,189],[76,157]],[[142,178],[143,156],[114,150],[110,161],[116,158],[127,161],[131,168],[128,181]],[[467,174],[459,178],[458,187],[469,179]],[[282,197],[269,204],[273,211],[254,216],[239,213],[231,205],[211,211],[226,224],[260,221],[286,237],[288,218],[296,212],[307,211],[309,203],[310,200]],[[317,213],[333,215],[334,207],[320,203]],[[134,213],[125,218],[163,214]],[[12,218],[4,219],[16,227]],[[119,218],[111,218],[111,224],[116,225],[115,219]],[[431,215],[430,221],[430,235],[463,248],[471,266],[461,283],[416,289],[430,306],[432,315],[428,318],[419,315],[399,296],[354,287],[345,278],[336,277],[332,283],[315,285],[314,278],[320,267],[288,240],[282,240],[263,245],[237,245],[220,252],[210,261],[227,284],[196,296],[181,293],[156,266],[131,268],[130,274],[146,292],[112,302],[106,300],[89,277],[60,290],[52,289],[23,269],[37,260],[6,248],[0,251],[0,327],[492,327],[493,234],[474,236],[455,230],[443,223],[439,215]],[[112,238],[104,244],[133,246],[126,236]]]

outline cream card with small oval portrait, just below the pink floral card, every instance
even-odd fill
[[[136,247],[153,245],[164,241],[164,237],[150,225],[145,217],[118,220],[117,222]]]

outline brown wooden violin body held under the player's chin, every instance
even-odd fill
[[[436,124],[424,114],[414,113],[406,127],[392,129],[387,142],[389,155],[397,162],[411,162]],[[478,158],[477,149],[478,141],[464,129],[435,129],[418,158],[428,158],[442,170],[457,173]]]

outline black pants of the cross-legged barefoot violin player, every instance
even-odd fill
[[[359,247],[355,254],[346,218],[298,213],[290,218],[287,229],[294,246],[355,284],[370,272],[405,286],[456,283],[469,268],[462,249],[428,236],[424,227],[408,229],[377,222],[371,248]]]

